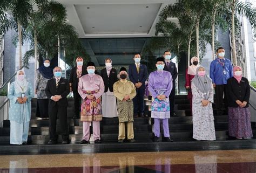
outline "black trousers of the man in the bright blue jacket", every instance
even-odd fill
[[[225,108],[227,108],[227,87],[226,87],[226,85],[216,85],[215,94],[216,94],[217,111],[223,112],[223,94],[224,94]]]

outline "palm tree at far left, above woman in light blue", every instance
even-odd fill
[[[4,34],[9,29],[14,29],[18,34],[19,42],[19,68],[22,67],[22,40],[25,27],[28,25],[28,17],[32,11],[29,0],[2,0],[1,3],[1,25],[0,34]],[[11,16],[6,15],[6,11],[11,12]]]

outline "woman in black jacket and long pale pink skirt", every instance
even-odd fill
[[[112,60],[110,58],[105,59],[105,66],[100,72],[100,75],[104,81],[105,91],[102,95],[102,116],[103,117],[116,117],[117,102],[116,97],[113,94],[114,82],[118,81],[117,70],[112,68]]]

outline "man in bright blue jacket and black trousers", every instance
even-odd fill
[[[217,114],[223,115],[223,95],[225,94],[224,101],[225,107],[227,107],[226,84],[227,80],[233,77],[233,66],[229,59],[224,58],[225,50],[223,47],[217,49],[217,56],[210,66],[210,78],[215,88]]]

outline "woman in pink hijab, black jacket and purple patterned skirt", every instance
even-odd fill
[[[233,68],[233,77],[227,80],[228,133],[237,139],[250,139],[252,135],[251,114],[248,108],[250,85],[242,77],[242,68]]]

